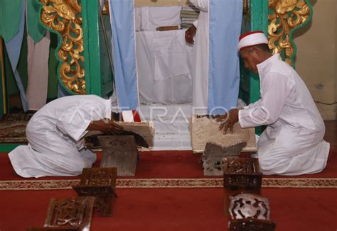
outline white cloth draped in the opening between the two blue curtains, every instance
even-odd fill
[[[190,103],[193,47],[186,30],[136,33],[139,95],[146,103]]]

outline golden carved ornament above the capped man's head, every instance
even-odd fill
[[[269,0],[268,40],[273,53],[284,50],[286,62],[292,63],[294,45],[291,30],[301,26],[309,19],[310,7],[304,0]]]

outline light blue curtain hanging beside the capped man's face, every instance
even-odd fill
[[[237,106],[242,9],[242,1],[210,1],[208,113],[213,115]]]

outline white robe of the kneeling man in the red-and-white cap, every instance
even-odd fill
[[[304,81],[281,57],[257,65],[261,99],[239,111],[242,128],[268,125],[257,142],[263,174],[314,174],[326,167],[330,145]]]

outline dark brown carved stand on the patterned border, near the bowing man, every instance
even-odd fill
[[[94,208],[102,216],[112,215],[116,188],[116,168],[83,169],[80,184],[73,186],[78,196],[94,196]]]

